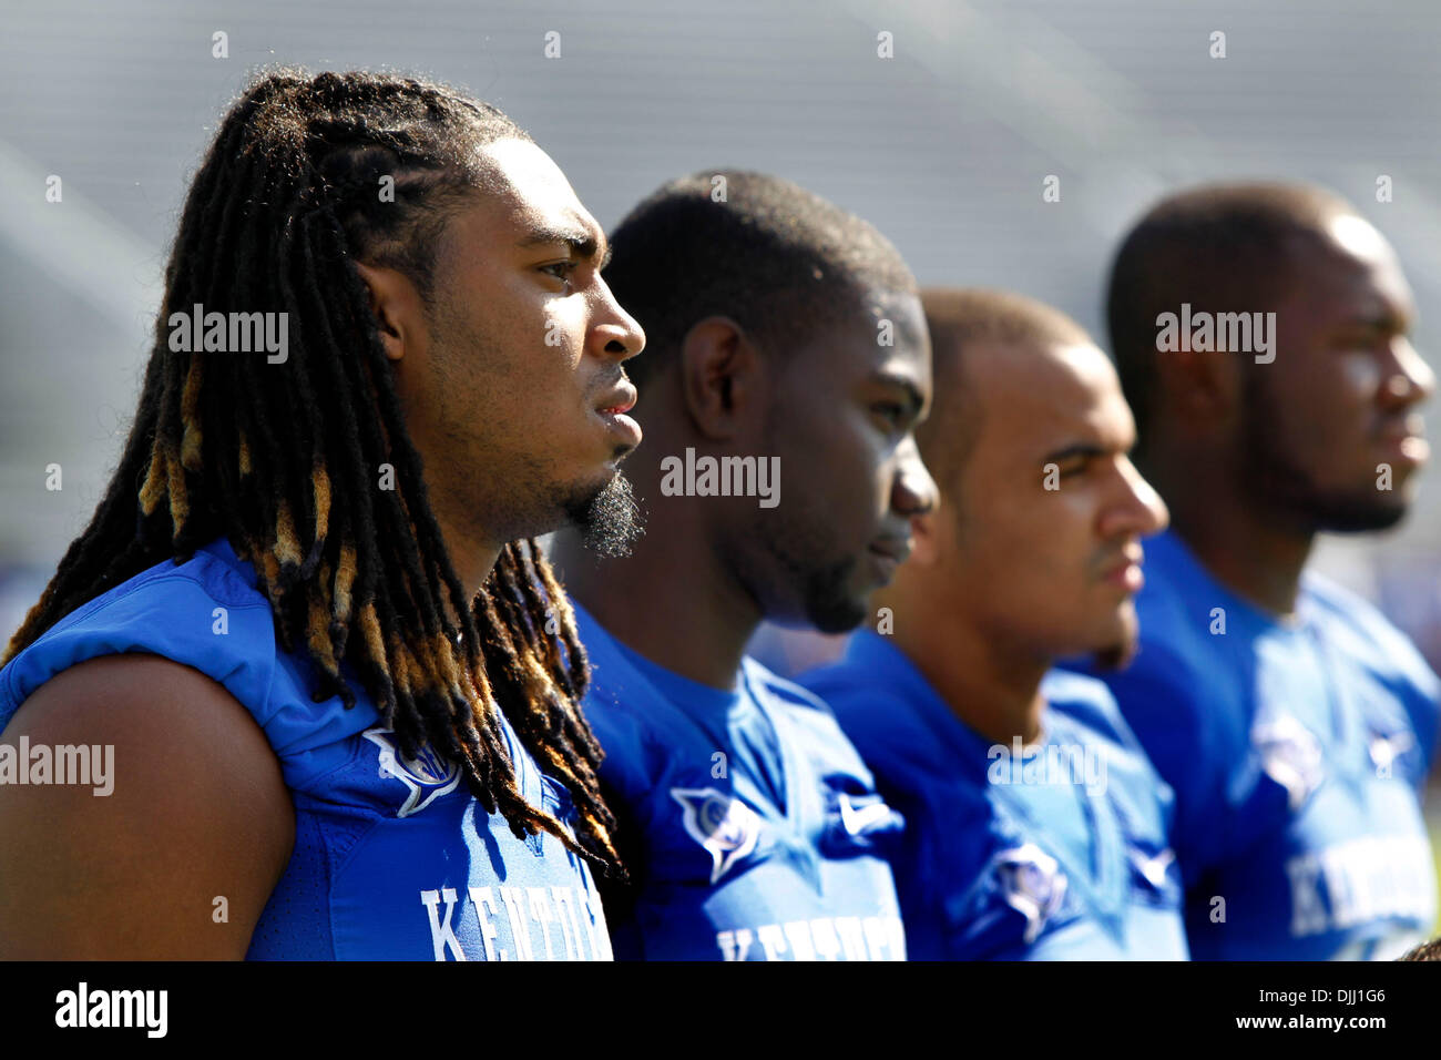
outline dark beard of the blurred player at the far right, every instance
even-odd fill
[[[1395,526],[1406,515],[1398,493],[1366,485],[1359,489],[1324,489],[1275,430],[1284,423],[1259,372],[1245,384],[1242,474],[1246,492],[1268,506],[1280,506],[1310,532],[1363,534]]]

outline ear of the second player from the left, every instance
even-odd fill
[[[731,317],[706,317],[680,345],[686,411],[708,438],[728,441],[759,412],[764,376],[761,352]]]

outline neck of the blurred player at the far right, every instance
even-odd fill
[[[1313,531],[1287,525],[1275,511],[1244,496],[1236,476],[1147,469],[1166,499],[1172,528],[1216,581],[1277,617],[1295,611]]]

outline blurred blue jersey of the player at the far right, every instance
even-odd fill
[[[1319,577],[1281,623],[1176,534],[1146,549],[1140,653],[1101,676],[1176,790],[1192,953],[1383,959],[1429,935],[1435,673]]]

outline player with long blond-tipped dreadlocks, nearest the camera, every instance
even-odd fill
[[[0,958],[610,956],[585,659],[529,539],[634,532],[644,335],[604,251],[486,104],[251,85],[120,467],[0,671],[29,770],[0,785]],[[282,313],[288,349],[186,352],[197,306]],[[78,744],[114,746],[110,798],[46,785]]]

